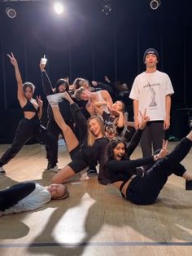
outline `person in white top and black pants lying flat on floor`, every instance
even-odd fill
[[[17,183],[0,191],[0,217],[40,208],[51,199],[65,199],[69,196],[64,184],[43,187],[39,183]]]

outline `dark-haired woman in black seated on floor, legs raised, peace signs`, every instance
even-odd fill
[[[168,141],[164,141],[160,152],[152,157],[129,160],[126,157],[127,149],[124,140],[111,139],[104,157],[103,172],[125,199],[137,205],[154,203],[171,174],[184,178],[186,189],[191,190],[192,175],[180,162],[190,152],[192,131],[181,139],[169,154],[167,145]],[[149,170],[142,175],[137,174],[136,167],[149,164],[153,164]]]

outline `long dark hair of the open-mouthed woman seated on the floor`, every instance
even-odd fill
[[[114,139],[111,139],[110,142],[107,144],[106,150],[105,150],[105,154],[104,154],[104,160],[103,160],[103,167],[107,164],[108,161],[114,159],[114,148],[116,148],[116,146],[119,143],[124,143],[124,148],[126,148],[126,143],[124,141],[124,139],[120,138],[120,137],[116,137]],[[127,159],[127,155],[126,152],[124,154],[124,157],[122,158],[122,160],[126,160]]]

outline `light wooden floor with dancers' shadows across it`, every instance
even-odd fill
[[[0,155],[7,147],[0,145]],[[68,161],[67,149],[59,146],[59,166]],[[192,171],[192,152],[183,162]],[[44,170],[45,148],[39,144],[24,146],[4,167],[0,189],[24,180],[47,185],[53,175]],[[185,191],[183,179],[172,175],[157,203],[147,206],[123,200],[96,177],[68,188],[65,201],[0,218],[0,255],[192,255],[192,191]]]

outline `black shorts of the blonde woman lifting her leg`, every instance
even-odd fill
[[[88,163],[85,162],[84,160],[84,157],[82,155],[81,148],[79,145],[76,148],[74,148],[71,152],[69,152],[69,154],[70,154],[70,157],[72,158],[72,161],[68,164],[68,166],[71,167],[75,173],[78,173],[89,166]]]

